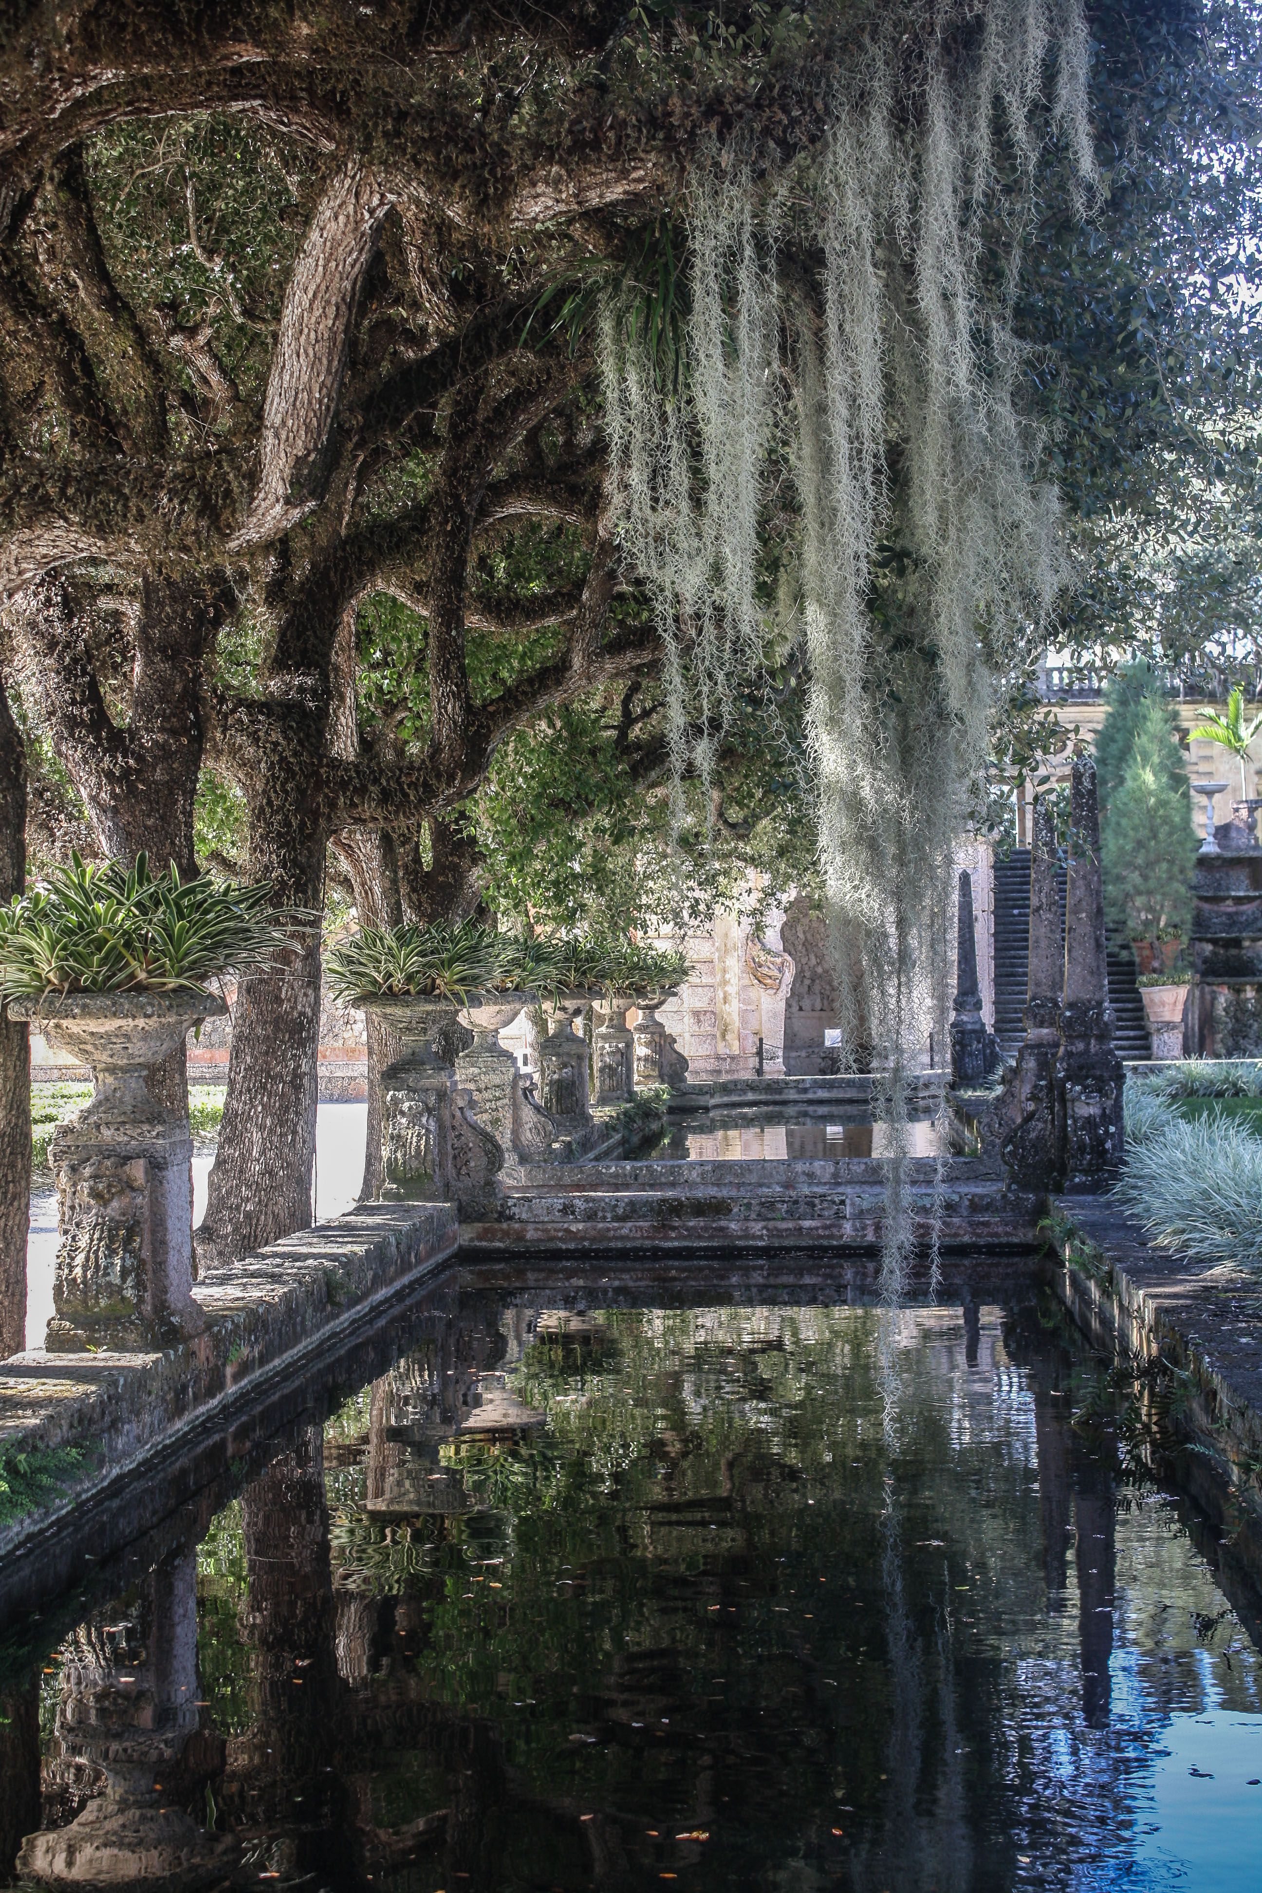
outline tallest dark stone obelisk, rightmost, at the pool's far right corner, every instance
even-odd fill
[[[1122,1159],[1124,1083],[1109,1007],[1095,761],[1078,755],[1073,765],[1065,988],[1056,1070],[1061,1189],[1101,1191],[1116,1172]]]

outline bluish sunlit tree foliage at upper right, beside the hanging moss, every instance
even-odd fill
[[[1048,182],[1014,310],[1080,551],[1063,642],[1205,689],[1258,664],[1256,13],[1099,0],[1092,42],[1097,201]]]

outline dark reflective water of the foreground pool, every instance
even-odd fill
[[[439,1295],[11,1626],[0,1868],[1260,1884],[1254,1601],[1046,1308],[617,1299]]]

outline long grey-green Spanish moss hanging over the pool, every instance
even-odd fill
[[[1063,579],[1005,297],[1043,146],[1060,140],[1086,195],[1092,140],[1080,0],[874,6],[863,44],[806,178],[759,178],[745,153],[692,184],[681,384],[662,392],[613,307],[600,360],[624,543],[668,653],[675,782],[708,784],[734,693],[785,621],[759,549],[772,452],[793,468],[819,861],[846,1053],[885,1071],[897,1300],[908,1073],[929,1034],[946,1043],[954,850],[991,706]],[[995,282],[999,151],[1016,191]]]

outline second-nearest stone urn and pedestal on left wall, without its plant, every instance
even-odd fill
[[[456,1075],[435,1056],[433,1039],[456,1022],[456,1003],[437,994],[382,994],[363,1007],[403,1041],[401,1056],[380,1075],[380,1194],[386,1202],[443,1202],[452,1194]]]

